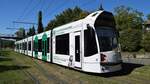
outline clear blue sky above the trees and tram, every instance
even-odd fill
[[[0,0],[0,33],[14,34],[16,30],[10,28],[24,27],[28,29],[32,25],[16,24],[13,21],[25,21],[37,23],[37,13],[43,12],[43,24],[48,22],[66,8],[79,6],[87,11],[95,11],[102,2],[103,8],[113,12],[114,8],[125,5],[143,12],[146,16],[150,14],[149,0]]]

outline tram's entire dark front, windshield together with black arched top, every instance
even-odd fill
[[[101,52],[112,51],[118,47],[119,33],[116,30],[114,16],[110,12],[102,12],[94,24]]]

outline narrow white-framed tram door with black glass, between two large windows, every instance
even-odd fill
[[[75,33],[75,67],[81,68],[81,32]]]

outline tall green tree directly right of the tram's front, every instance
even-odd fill
[[[143,13],[125,6],[116,7],[114,12],[122,50],[138,51],[141,48]]]

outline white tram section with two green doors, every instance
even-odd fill
[[[33,36],[33,57],[50,62],[51,31],[46,31]]]

